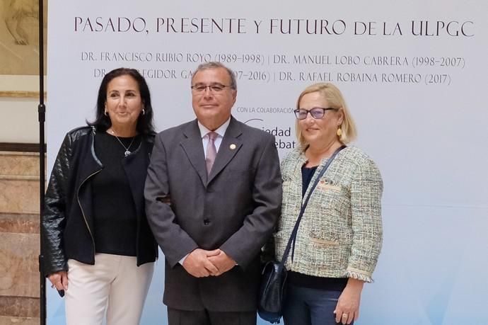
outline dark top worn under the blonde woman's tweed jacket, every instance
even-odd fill
[[[306,193],[310,180],[313,174],[317,170],[317,166],[301,168],[301,179],[302,179],[302,198]],[[342,291],[347,285],[347,278],[323,278],[313,275],[306,275],[294,271],[289,271],[288,281],[291,285],[296,285],[299,287],[308,287],[312,289],[320,290],[337,290]]]

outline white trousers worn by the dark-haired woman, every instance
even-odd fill
[[[68,260],[66,324],[137,325],[154,263],[136,266],[135,256],[95,254],[95,265]]]

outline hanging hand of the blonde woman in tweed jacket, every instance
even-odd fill
[[[359,302],[364,282],[349,278],[335,307],[335,321],[340,324],[351,324],[359,318]]]

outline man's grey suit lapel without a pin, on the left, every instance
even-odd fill
[[[188,127],[183,130],[183,135],[185,139],[180,143],[185,151],[185,154],[192,164],[195,171],[197,171],[200,176],[200,180],[207,185],[207,167],[205,166],[205,154],[203,152],[202,145],[202,135],[200,135],[200,130],[198,128],[197,120],[190,123]]]

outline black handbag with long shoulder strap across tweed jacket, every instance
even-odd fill
[[[310,188],[310,191],[308,191],[306,199],[303,201],[300,214],[298,215],[298,219],[296,219],[295,227],[291,232],[288,244],[286,244],[286,249],[283,253],[283,258],[281,258],[281,262],[269,261],[262,269],[260,294],[259,300],[257,301],[257,314],[259,314],[260,317],[265,321],[269,321],[272,324],[278,324],[279,319],[281,319],[281,316],[283,316],[283,304],[284,298],[286,297],[286,268],[284,267],[284,264],[286,263],[286,259],[288,258],[292,244],[295,247],[298,225],[300,224],[301,217],[303,216],[303,212],[305,212],[305,208],[308,203],[308,199],[310,198],[315,186],[317,186],[320,178],[323,176],[332,160],[334,160],[335,156],[345,147],[346,146],[339,147],[339,149],[332,154],[330,159],[327,160],[327,164],[325,164],[322,171],[320,171],[317,178],[315,178],[315,182]],[[291,253],[291,259],[293,261],[293,252]]]

